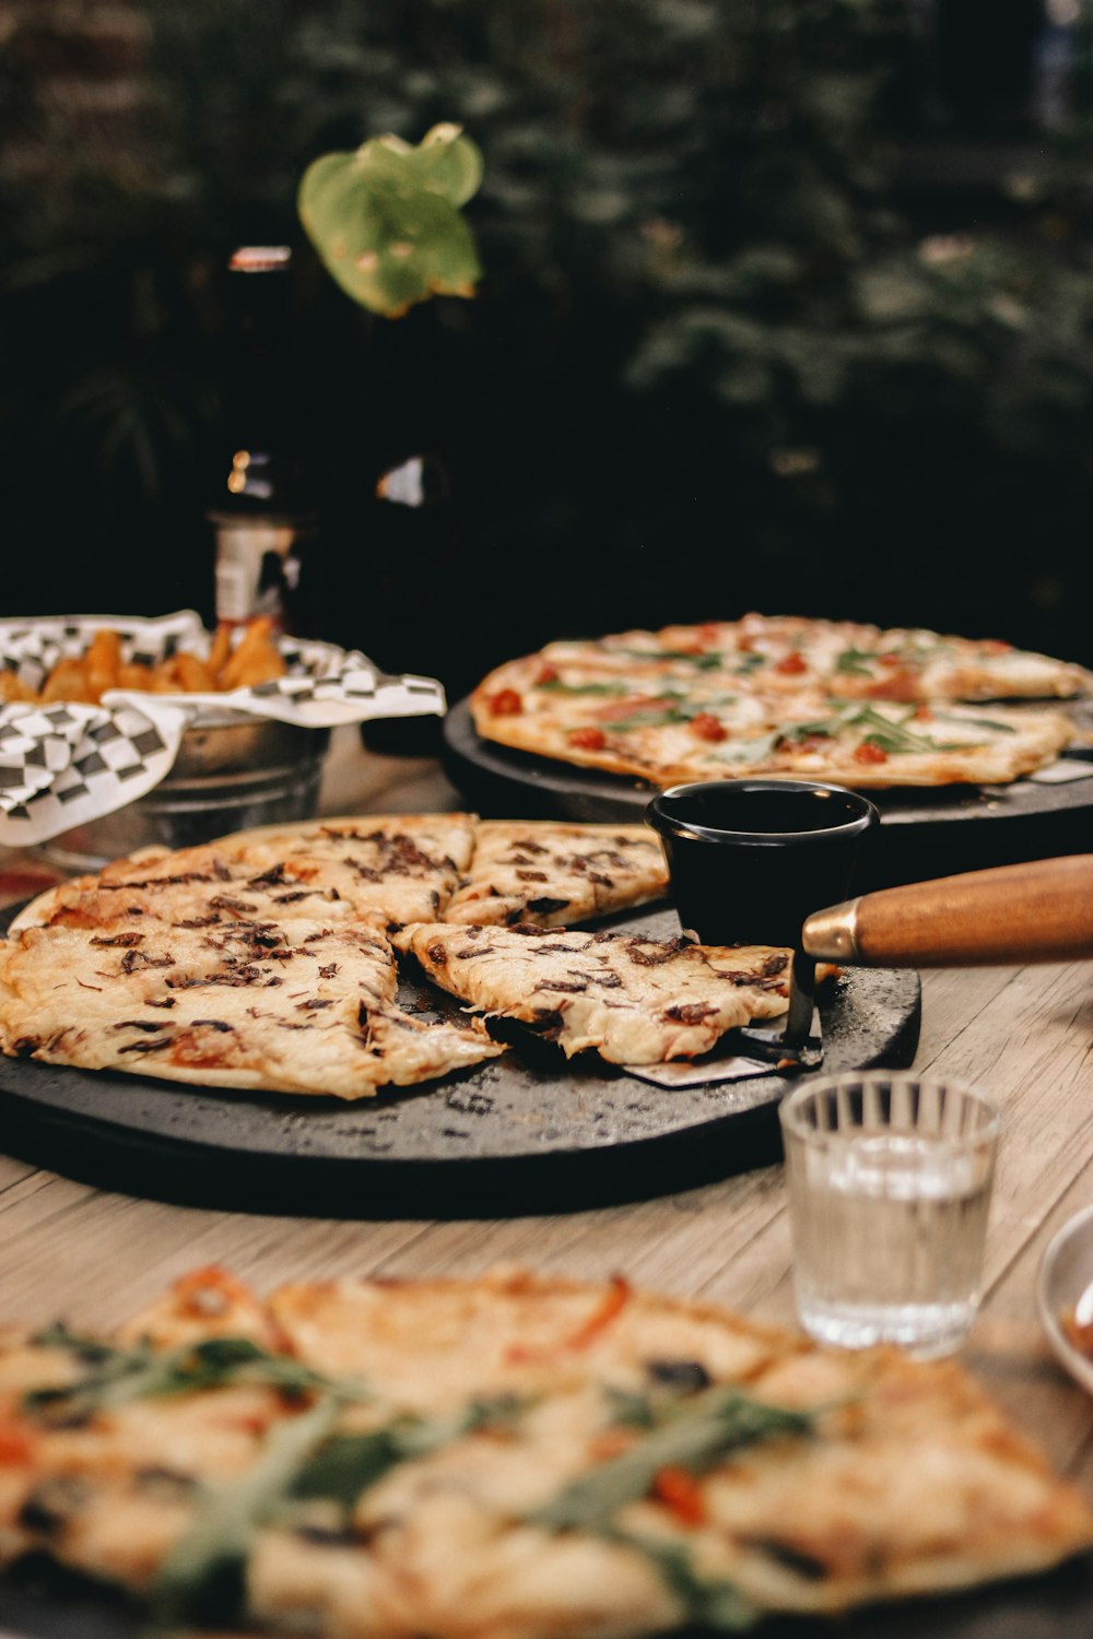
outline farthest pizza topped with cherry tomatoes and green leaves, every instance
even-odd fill
[[[1093,672],[1000,641],[744,615],[549,642],[470,695],[488,741],[652,785],[785,775],[1003,783],[1075,738]],[[1050,701],[1050,708],[1047,706]]]

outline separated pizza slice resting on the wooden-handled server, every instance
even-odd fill
[[[708,1052],[788,1005],[791,952],[685,938],[433,923],[395,936],[429,978],[490,1019],[518,1019],[567,1057],[664,1064]]]

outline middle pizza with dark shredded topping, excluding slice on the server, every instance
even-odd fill
[[[377,815],[143,849],[15,918],[0,1051],[254,1092],[413,1087],[505,1047],[477,1018],[400,1006],[403,926],[554,928],[665,888],[660,844],[637,824]]]

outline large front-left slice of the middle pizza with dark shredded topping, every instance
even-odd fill
[[[197,1085],[362,1098],[495,1057],[395,1000],[382,918],[28,928],[0,949],[0,1049]]]

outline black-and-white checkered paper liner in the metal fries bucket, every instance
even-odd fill
[[[208,652],[193,610],[157,620],[56,616],[0,621],[0,665],[38,692],[59,659],[84,654],[95,631],[121,638],[125,661],[156,664],[185,649]],[[388,677],[364,654],[282,638],[287,675],[224,693],[111,690],[100,705],[0,705],[0,846],[31,847],[125,808],[170,772],[187,726],[239,711],[298,728],[444,713],[433,677]]]

